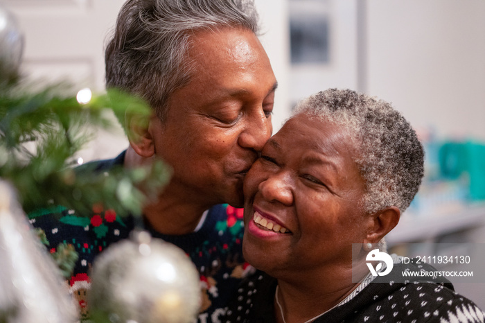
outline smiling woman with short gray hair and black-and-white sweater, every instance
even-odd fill
[[[431,266],[378,251],[418,191],[423,157],[388,103],[337,89],[301,102],[245,178],[245,259],[270,276],[241,286],[227,321],[484,322],[446,279],[398,277]],[[390,263],[368,268],[379,254]]]

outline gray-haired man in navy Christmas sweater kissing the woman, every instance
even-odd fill
[[[172,166],[173,177],[143,209],[143,220],[200,270],[201,322],[218,322],[247,272],[242,212],[235,208],[243,205],[245,174],[270,138],[276,89],[257,31],[251,1],[128,0],[106,49],[107,87],[145,98],[153,114],[141,123],[127,119],[130,147],[96,168],[139,166],[153,158]],[[81,227],[70,220],[72,213],[68,218],[64,211],[62,223],[39,217],[35,225],[45,230],[51,251],[72,241],[79,259],[70,283],[85,289],[94,258],[127,238],[133,221],[121,225],[112,211],[96,208],[96,221]],[[85,299],[80,308],[82,318],[89,317]]]

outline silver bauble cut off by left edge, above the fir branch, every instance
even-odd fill
[[[0,73],[6,76],[17,73],[23,51],[24,37],[17,20],[0,3]]]

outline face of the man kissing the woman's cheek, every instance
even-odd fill
[[[150,122],[155,152],[173,167],[170,193],[211,206],[243,205],[243,179],[272,132],[276,78],[249,30],[197,32],[191,81]]]

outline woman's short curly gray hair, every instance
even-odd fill
[[[362,202],[368,213],[409,207],[423,178],[424,150],[412,126],[389,103],[350,89],[328,89],[301,101],[294,113],[337,123],[349,132],[366,182]]]

